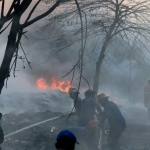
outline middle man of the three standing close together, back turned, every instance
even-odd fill
[[[79,126],[86,126],[90,120],[94,120],[96,102],[95,92],[91,89],[87,89],[84,95],[85,98],[82,100]]]

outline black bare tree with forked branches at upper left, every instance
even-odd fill
[[[12,67],[14,67],[14,76],[15,76],[16,63],[17,63],[17,59],[19,59],[18,49],[19,49],[20,40],[22,35],[26,33],[24,32],[24,29],[32,25],[33,23],[39,21],[40,19],[46,17],[47,15],[49,15],[52,11],[55,10],[56,7],[59,6],[60,3],[66,2],[64,0],[63,1],[58,0],[45,13],[30,20],[30,17],[32,16],[33,12],[35,11],[36,7],[39,5],[41,1],[42,0],[38,0],[35,3],[34,7],[29,12],[27,19],[23,24],[20,24],[20,19],[23,16],[23,13],[29,8],[33,0],[13,0],[6,16],[4,16],[5,0],[1,1],[2,4],[1,4],[1,18],[0,18],[0,34],[3,33],[8,28],[9,25],[11,25],[11,28],[8,35],[5,54],[0,67],[0,93],[2,92],[5,80],[10,76],[10,71]],[[11,22],[8,25],[5,25],[6,22],[8,22],[9,20]],[[5,27],[4,29],[2,29],[4,25]],[[12,63],[12,66],[10,66],[13,57],[14,57],[14,62]]]

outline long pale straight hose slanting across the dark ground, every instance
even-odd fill
[[[29,129],[29,128],[38,126],[38,125],[40,125],[40,124],[43,124],[43,123],[46,123],[46,122],[49,122],[49,121],[52,121],[52,120],[56,120],[56,119],[58,119],[58,118],[60,118],[60,117],[62,117],[62,116],[66,116],[66,115],[68,115],[68,114],[70,114],[70,112],[66,112],[66,113],[63,113],[63,114],[61,114],[61,115],[59,115],[59,116],[57,116],[57,117],[50,118],[50,119],[47,119],[47,120],[44,120],[44,121],[41,121],[41,122],[32,124],[32,125],[30,125],[30,126],[27,126],[27,127],[22,128],[22,129],[19,129],[19,130],[17,130],[17,131],[14,131],[14,132],[12,132],[12,133],[9,133],[9,134],[5,135],[4,138],[7,138],[7,137],[9,137],[9,136],[11,136],[11,135],[14,135],[14,134],[17,134],[17,133],[22,132],[22,131],[24,131],[24,130],[27,130],[27,129]]]

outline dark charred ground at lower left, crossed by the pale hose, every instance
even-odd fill
[[[2,128],[5,135],[30,126],[34,123],[53,118],[61,115],[61,113],[53,113],[51,111],[38,113],[24,113],[24,114],[7,114],[4,115]],[[53,150],[57,133],[61,128],[65,128],[66,116],[61,117],[51,122],[40,124],[38,126],[26,129],[20,133],[11,135],[5,138],[2,145],[3,150]],[[56,129],[51,132],[52,127]]]

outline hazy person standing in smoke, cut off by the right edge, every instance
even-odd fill
[[[148,79],[148,84],[144,88],[144,105],[147,108],[150,121],[150,79]]]

